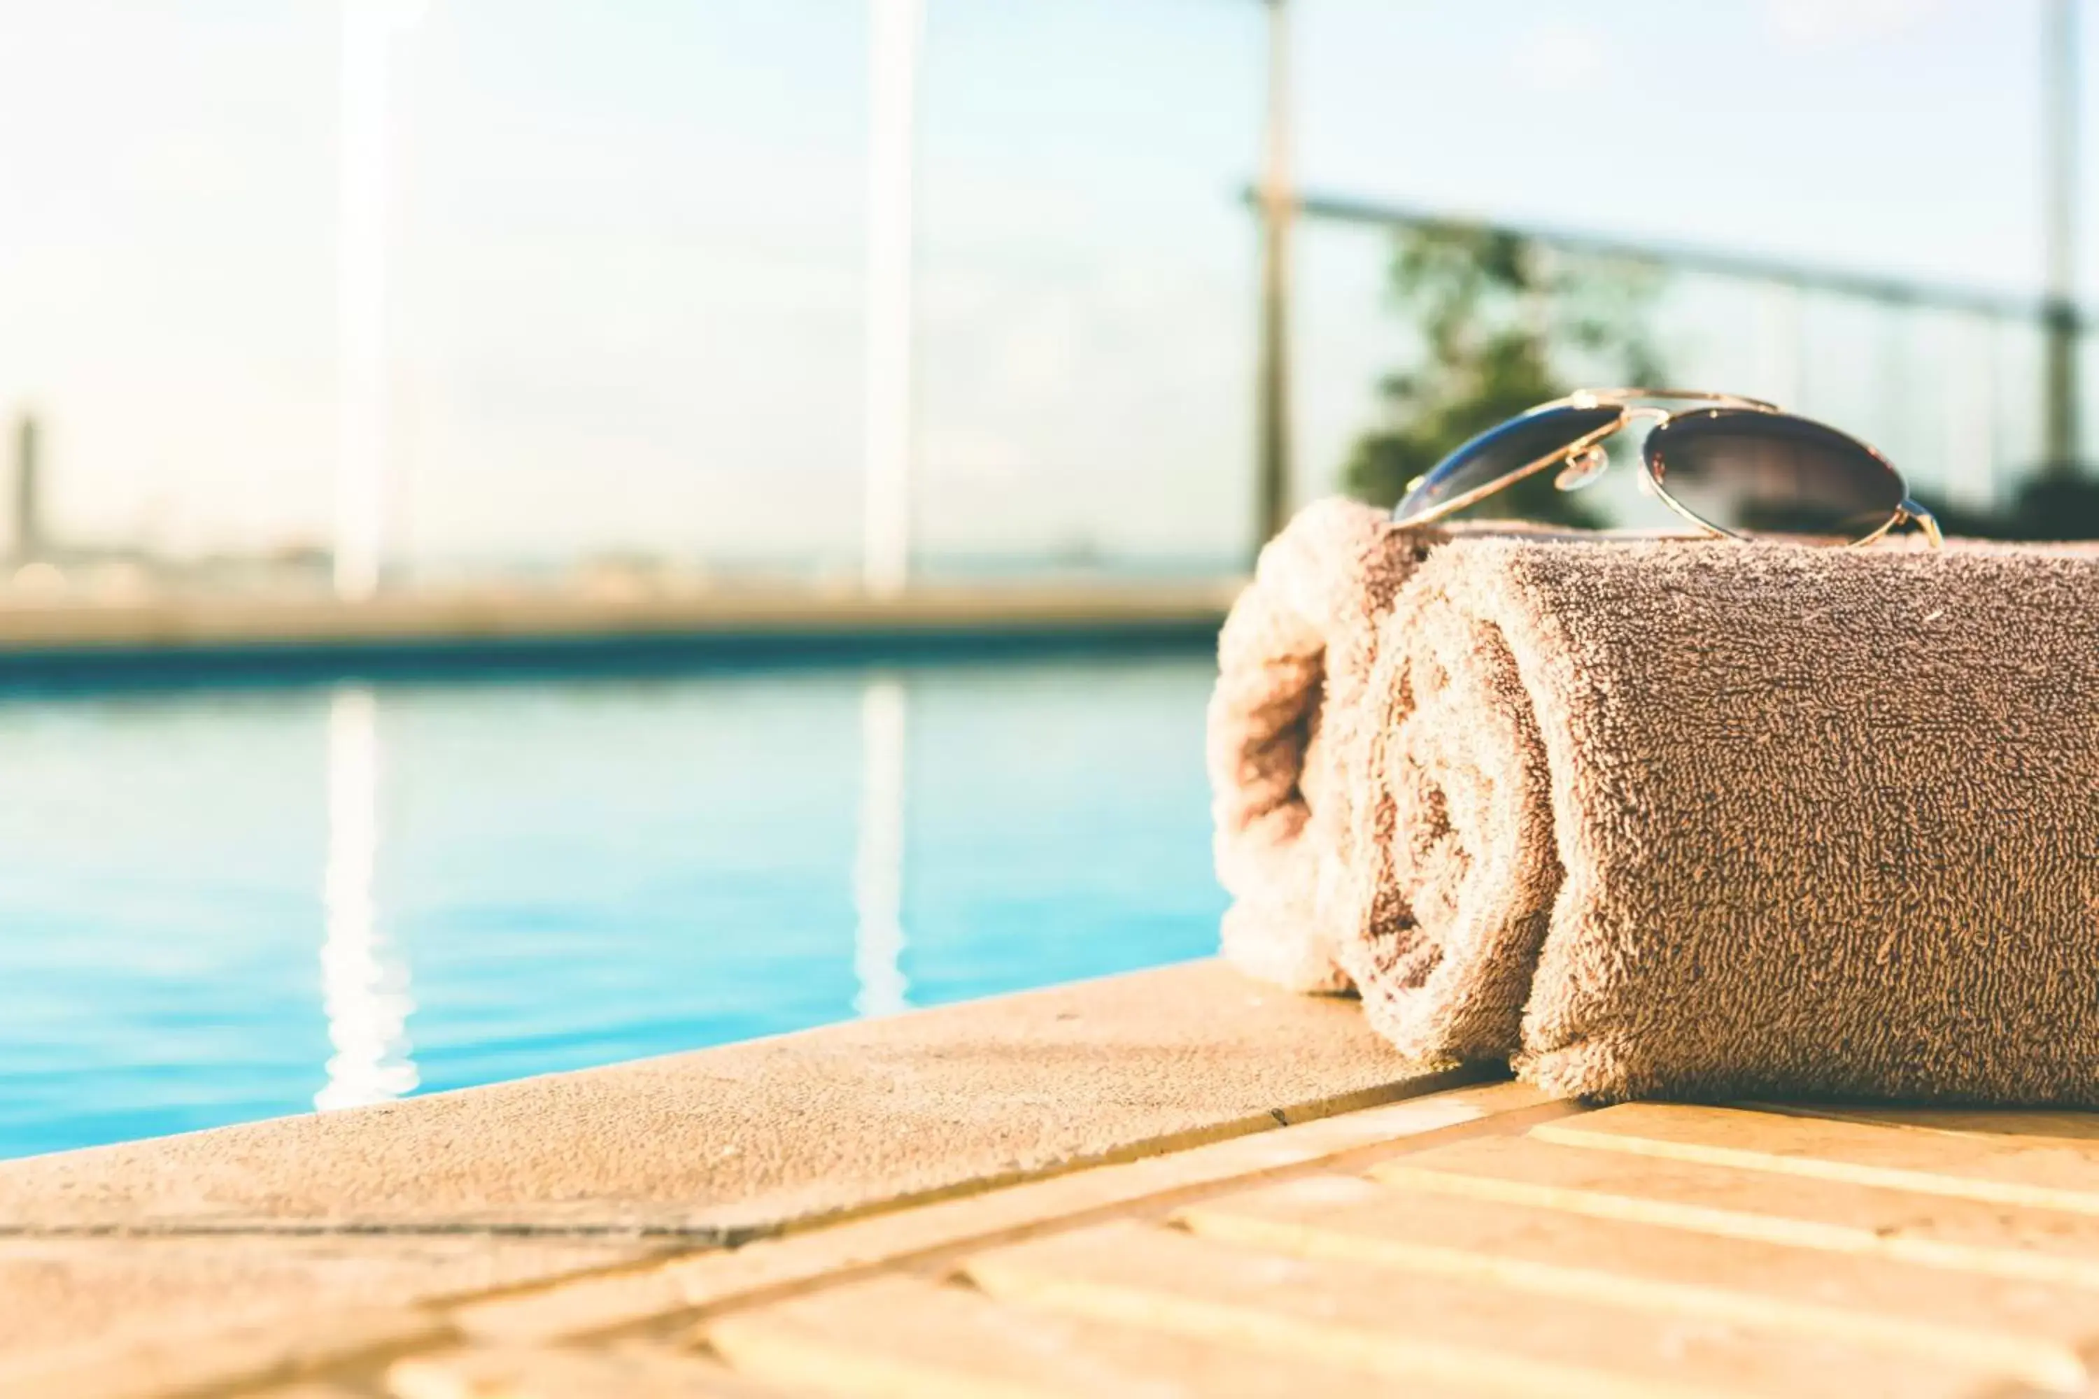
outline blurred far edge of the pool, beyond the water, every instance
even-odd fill
[[[934,581],[894,596],[724,585],[632,596],[422,589],[369,602],[0,602],[0,684],[311,680],[344,669],[416,677],[453,669],[938,657],[984,646],[1192,646],[1215,638],[1241,587],[1243,579],[1070,579]]]

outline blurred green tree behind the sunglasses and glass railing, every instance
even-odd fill
[[[1345,489],[1392,505],[1453,447],[1585,384],[1660,384],[1646,331],[1658,279],[1648,268],[1576,264],[1532,239],[1467,224],[1408,229],[1392,260],[1392,292],[1421,329],[1425,363],[1379,384],[1387,419],[1343,468]],[[1570,526],[1604,520],[1541,472],[1469,514]]]

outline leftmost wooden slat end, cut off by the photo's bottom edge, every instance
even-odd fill
[[[733,1374],[703,1355],[621,1342],[565,1347],[472,1347],[395,1361],[395,1399],[779,1399],[781,1391]]]

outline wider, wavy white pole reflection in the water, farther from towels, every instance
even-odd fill
[[[327,1013],[327,1084],[313,1105],[386,1103],[416,1089],[407,1015],[416,1009],[407,963],[380,929],[378,701],[363,686],[336,690],[327,707],[327,875],[321,898],[321,1003]]]

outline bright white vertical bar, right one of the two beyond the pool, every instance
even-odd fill
[[[867,589],[903,591],[911,575],[913,216],[917,65],[924,0],[869,0],[867,105]]]

